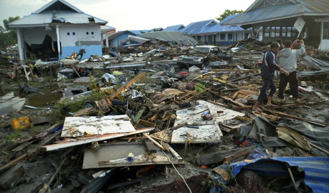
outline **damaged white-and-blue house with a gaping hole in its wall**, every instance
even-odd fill
[[[62,59],[73,53],[82,53],[84,59],[102,55],[100,26],[106,23],[64,0],[52,0],[9,27],[17,29],[20,60],[34,56]]]

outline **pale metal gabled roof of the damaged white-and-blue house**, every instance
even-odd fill
[[[51,10],[54,5],[58,5],[57,7],[60,10]],[[47,26],[49,23],[97,23],[104,25],[107,21],[84,13],[64,0],[53,0],[32,14],[15,20],[8,25],[9,27]]]

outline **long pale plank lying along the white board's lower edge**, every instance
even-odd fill
[[[67,140],[60,141],[60,143],[42,146],[41,149],[43,151],[52,151],[52,150],[57,150],[57,149],[65,148],[65,147],[82,145],[82,144],[91,143],[94,141],[103,141],[103,140],[107,140],[107,139],[119,138],[119,137],[123,137],[123,136],[127,136],[127,135],[134,135],[134,134],[153,131],[153,130],[154,130],[154,128],[147,128],[147,129],[140,129],[140,130],[136,130],[136,131],[128,132],[128,133],[113,133],[113,134],[108,134],[108,135],[96,135],[96,136],[92,136],[92,137],[88,137],[88,138],[85,137],[85,138],[79,138],[79,139],[67,139]]]

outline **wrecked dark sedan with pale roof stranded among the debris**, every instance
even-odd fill
[[[195,65],[204,69],[207,63],[212,61],[207,55],[227,61],[232,59],[232,55],[222,52],[217,46],[196,46],[188,55],[179,56],[177,64],[184,67]]]

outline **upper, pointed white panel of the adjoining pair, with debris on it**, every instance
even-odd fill
[[[204,100],[197,100],[197,102],[202,105],[201,107],[192,107],[183,110],[176,111],[176,116],[181,117],[180,120],[175,120],[174,126],[188,122],[189,125],[207,125],[213,124],[211,121],[214,121],[214,118],[218,123],[223,122],[224,120],[230,120],[235,118],[236,116],[244,116],[243,113],[233,111],[231,109],[227,109],[225,107],[217,106],[215,104],[209,103]],[[201,118],[202,112],[208,110],[207,104],[210,108],[211,114],[214,114],[213,120],[205,121]],[[217,111],[223,111],[223,113],[217,113]]]

